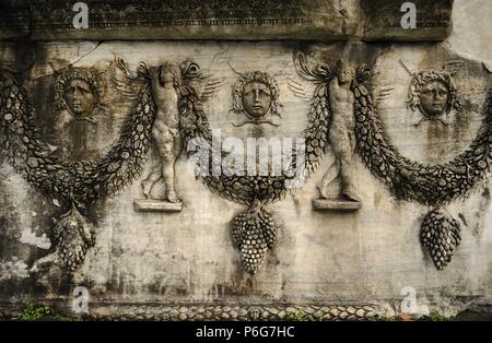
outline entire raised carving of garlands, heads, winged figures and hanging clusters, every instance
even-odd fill
[[[319,192],[321,198],[329,198],[326,188],[339,176],[339,197],[344,199],[316,200],[315,208],[335,211],[361,208],[352,181],[352,155],[356,152],[367,169],[397,199],[431,208],[422,222],[421,243],[430,250],[437,269],[443,269],[460,243],[460,225],[443,206],[465,199],[489,176],[492,158],[489,149],[490,98],[483,108],[482,128],[470,147],[446,164],[425,165],[402,156],[390,144],[377,113],[380,97],[389,96],[390,92],[388,88],[375,91],[367,66],[354,67],[354,62],[344,59],[328,66],[297,52],[293,57],[298,76],[306,84],[292,83],[291,90],[311,100],[307,127],[302,134],[306,147],[301,154],[305,163],[292,162],[291,167],[296,173],[280,176],[213,173],[213,159],[229,153],[212,144],[209,114],[203,105],[208,98],[213,98],[214,90],[221,85],[204,76],[192,61],[155,66],[141,62],[132,72],[122,59],[117,58],[109,69],[119,71],[124,78],[115,78],[112,86],[126,94],[132,107],[119,140],[109,152],[83,161],[49,155],[45,142],[35,134],[28,87],[20,84],[12,73],[2,71],[0,110],[5,154],[27,181],[60,201],[67,211],[54,227],[56,246],[52,255],[39,260],[37,265],[59,263],[69,271],[80,267],[87,249],[95,244],[95,223],[89,220],[92,206],[140,176],[152,145],[159,163],[142,180],[143,194],[150,199],[137,200],[134,208],[139,211],[179,211],[181,202],[175,189],[175,163],[181,150],[191,157],[196,151],[190,150],[190,142],[200,140],[203,142],[201,153],[211,163],[207,166],[208,173],[197,175],[197,179],[214,193],[247,206],[231,223],[232,243],[239,250],[246,271],[256,273],[276,245],[280,225],[267,206],[292,193],[295,190],[292,182],[305,181],[312,176],[329,150],[335,162],[324,176]],[[96,123],[93,120],[96,108],[105,109],[101,90],[107,86],[101,85],[94,72],[68,69],[55,80],[56,103],[73,120],[93,125]],[[270,115],[279,115],[279,90],[277,81],[266,72],[244,73],[233,91],[234,109],[254,125],[262,123]],[[456,94],[450,73],[420,71],[411,81],[410,106],[421,110],[425,118],[440,118],[449,108],[458,108]],[[165,194],[153,199],[152,188],[160,180],[164,182]]]

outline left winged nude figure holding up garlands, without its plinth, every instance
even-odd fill
[[[203,87],[200,87],[201,83],[195,84],[194,81],[202,81],[207,78],[201,75],[199,66],[190,61],[185,61],[180,66],[164,62],[152,68],[141,62],[137,73],[131,73],[124,60],[117,59],[117,63],[127,79],[137,83],[147,83],[156,106],[151,137],[160,162],[153,165],[150,174],[142,181],[143,196],[147,199],[152,198],[153,187],[162,180],[165,187],[164,201],[180,203],[181,200],[175,187],[175,164],[184,145],[179,116],[180,98],[189,92],[195,92],[197,96],[200,95],[200,98],[211,96],[219,87],[220,82],[208,80]],[[114,82],[122,91],[129,85],[131,87],[132,84],[131,82],[125,84],[116,78],[114,78]]]

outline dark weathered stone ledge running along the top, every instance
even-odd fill
[[[74,29],[65,0],[2,1],[0,37],[31,39],[443,40],[453,0],[414,1],[418,27],[400,25],[401,1],[87,0],[90,27]]]

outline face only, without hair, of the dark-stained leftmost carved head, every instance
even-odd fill
[[[87,82],[73,79],[65,91],[65,100],[70,111],[78,117],[91,115],[95,105],[95,97]]]

